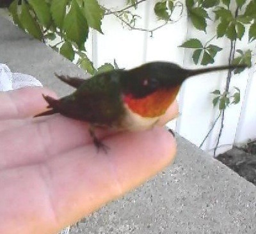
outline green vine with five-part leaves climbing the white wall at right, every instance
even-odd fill
[[[247,66],[252,65],[252,51],[250,49],[242,51],[236,48],[237,40],[242,40],[246,33],[248,33],[249,42],[253,42],[256,38],[256,1],[236,0],[230,2],[230,0],[187,0],[186,6],[188,9],[189,19],[191,20],[195,29],[204,31],[207,33],[207,22],[209,20],[214,21],[214,29],[216,31],[216,39],[227,38],[230,40],[230,53],[228,64],[244,64]],[[235,7],[235,10],[232,10]],[[214,15],[214,19],[211,19],[209,15]],[[246,32],[246,28],[248,31]],[[209,44],[212,41],[211,38],[205,45],[203,45],[197,38],[191,38],[180,45],[188,49],[193,49],[193,62],[200,65],[208,65],[214,63],[215,56],[223,48]],[[237,56],[235,56],[237,54]],[[228,71],[226,78],[226,85],[224,91],[215,90],[212,94],[215,97],[212,100],[214,107],[218,105],[220,114],[214,121],[211,129],[204,137],[204,140],[200,144],[203,146],[205,140],[214,129],[216,123],[220,120],[220,131],[216,140],[216,146],[214,148],[214,155],[220,143],[221,134],[223,132],[225,111],[232,104],[238,104],[240,102],[240,90],[235,88],[235,92],[230,95],[230,81],[232,76],[243,72],[244,69],[236,69]]]

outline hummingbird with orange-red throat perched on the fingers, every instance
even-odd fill
[[[95,127],[129,131],[150,129],[166,112],[182,82],[189,77],[244,67],[227,65],[190,70],[175,63],[154,61],[131,70],[102,72],[89,79],[55,74],[76,91],[59,100],[43,95],[48,109],[35,117],[60,113],[87,121],[93,143],[98,149],[106,150],[107,147],[95,136]]]

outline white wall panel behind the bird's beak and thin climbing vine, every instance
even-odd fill
[[[204,32],[195,31],[192,26],[188,26],[187,39],[199,38],[204,44],[213,35],[214,31],[209,31],[207,35],[205,35]],[[247,41],[248,40],[244,38],[243,42],[237,42],[237,49],[244,49],[248,47]],[[214,39],[209,43],[219,45],[223,48],[223,51],[217,54],[214,65],[227,65],[230,51],[229,40],[218,39],[218,41],[216,41]],[[191,50],[186,49],[184,63],[187,67],[195,67],[191,57]],[[197,146],[202,143],[202,140],[209,129],[211,129],[212,123],[216,120],[219,113],[217,108],[213,109],[212,98],[214,96],[211,95],[211,91],[216,89],[223,91],[226,77],[227,72],[218,72],[191,78],[185,82],[180,91],[181,115],[177,121],[177,130],[182,136],[186,137]],[[227,111],[225,111],[225,127],[220,139],[220,145],[225,144],[228,145],[228,147],[231,147],[234,143],[247,78],[248,74],[246,72],[232,77],[232,81],[230,82],[230,91],[234,90],[234,86],[240,88],[241,102],[238,105],[230,106]],[[210,134],[207,141],[205,141],[203,149],[209,150],[214,148],[219,130],[220,121],[217,122],[212,134]],[[218,152],[220,153],[223,149],[225,150],[227,147],[221,147]]]

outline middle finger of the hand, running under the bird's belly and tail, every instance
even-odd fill
[[[106,130],[96,130],[95,133],[99,139],[111,134]],[[0,152],[4,152],[0,154],[0,169],[59,157],[62,152],[88,143],[92,143],[88,123],[65,118],[60,114],[45,121],[35,119],[30,124],[0,134]]]

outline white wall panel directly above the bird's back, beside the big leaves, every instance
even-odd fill
[[[106,1],[105,1],[106,3]],[[116,1],[108,1],[108,8]],[[145,4],[138,6],[136,13],[141,16],[137,20],[136,27],[145,27]],[[124,5],[123,5],[124,6]],[[121,7],[122,8],[122,7]],[[132,10],[132,9],[130,9]],[[141,65],[143,62],[144,32],[129,30],[122,26],[122,22],[113,15],[107,15],[102,21],[104,35],[97,33],[97,65],[104,63],[116,63],[120,68],[131,68]],[[94,36],[93,36],[94,38]]]

